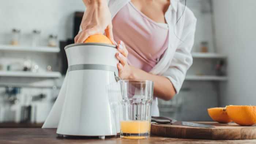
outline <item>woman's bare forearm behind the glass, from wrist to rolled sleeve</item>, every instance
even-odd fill
[[[154,95],[164,99],[170,100],[176,94],[176,90],[173,84],[164,76],[153,75],[151,73],[145,72],[141,69],[132,67],[132,74],[129,79],[141,79],[141,80],[152,80],[154,82]]]

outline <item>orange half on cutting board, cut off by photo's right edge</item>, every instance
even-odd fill
[[[227,115],[238,125],[250,126],[256,124],[256,106],[226,106]]]

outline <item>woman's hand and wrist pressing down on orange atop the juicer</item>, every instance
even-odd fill
[[[106,36],[114,44],[111,14],[108,8],[107,0],[83,0],[86,5],[81,22],[82,31],[75,37],[75,43],[84,42],[90,35],[102,34],[104,31]]]

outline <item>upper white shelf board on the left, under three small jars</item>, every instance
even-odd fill
[[[12,46],[12,45],[0,45],[0,50],[5,51],[25,51],[25,52],[46,52],[46,53],[58,53],[60,52],[59,47],[49,46]]]

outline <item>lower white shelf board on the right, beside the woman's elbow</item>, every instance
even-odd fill
[[[185,80],[208,80],[208,81],[226,81],[226,76],[197,76],[197,75],[187,75]]]

